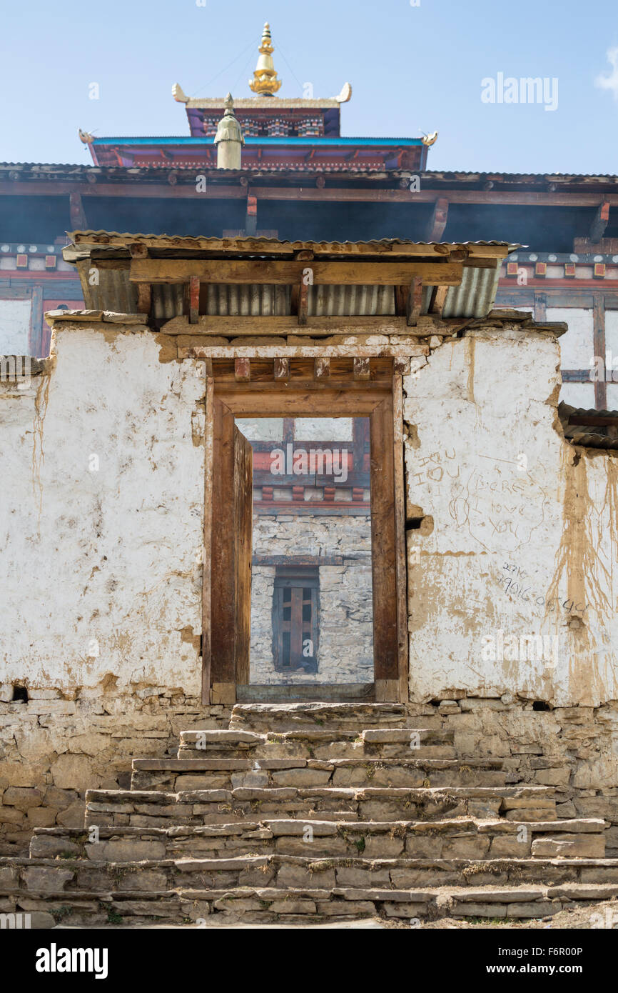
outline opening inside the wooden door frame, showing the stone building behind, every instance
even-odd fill
[[[374,682],[369,418],[236,427],[253,453],[249,685],[237,698],[362,696]]]

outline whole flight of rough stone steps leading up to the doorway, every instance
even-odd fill
[[[0,859],[32,926],[543,918],[618,896],[605,821],[396,704],[236,705]],[[566,804],[567,806],[568,804]],[[563,806],[563,804],[562,804]]]

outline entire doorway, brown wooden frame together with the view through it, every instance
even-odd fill
[[[272,359],[270,371],[261,358],[213,360],[204,500],[204,702],[405,698],[401,389],[394,392],[392,359],[371,362],[337,358],[328,368],[328,359],[315,359],[311,377],[313,359],[275,359],[273,379]],[[328,437],[346,422],[346,437]],[[311,466],[311,448],[328,448],[330,465],[324,460],[321,467]],[[343,449],[348,454],[341,461]],[[338,533],[345,538],[337,546],[327,532],[336,537],[342,523]],[[355,590],[348,586],[343,604],[340,588],[354,569],[365,570],[365,593],[353,602]],[[352,644],[343,643],[353,615],[365,647],[358,635],[350,634]],[[311,654],[303,655],[304,649]]]

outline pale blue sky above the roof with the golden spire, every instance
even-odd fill
[[[97,136],[187,134],[172,84],[189,95],[251,95],[265,20],[280,96],[302,95],[306,82],[315,96],[332,96],[352,83],[345,135],[437,130],[431,169],[618,173],[616,0],[4,5],[0,160],[87,163],[78,127]],[[481,81],[499,72],[556,78],[556,110],[482,102]],[[98,100],[89,99],[91,82]]]

